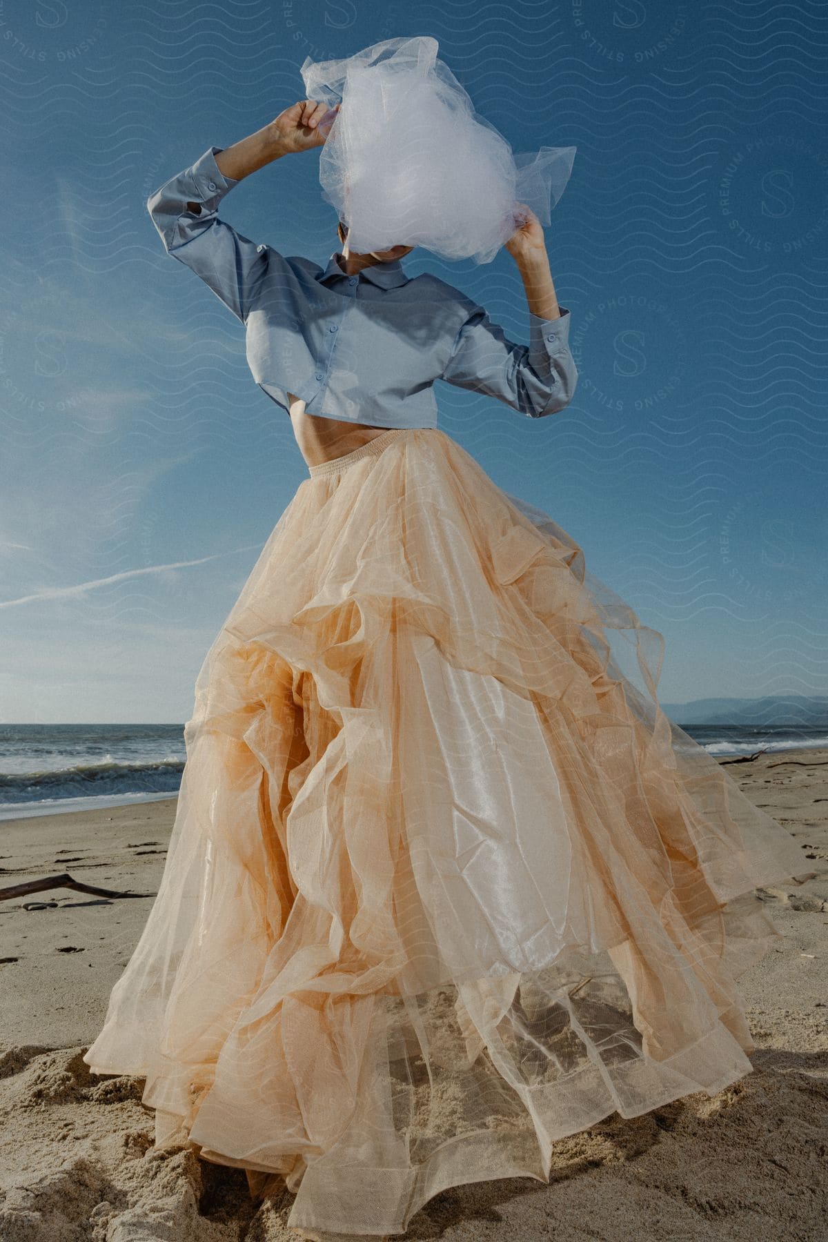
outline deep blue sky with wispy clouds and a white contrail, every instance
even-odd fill
[[[546,230],[575,400],[530,421],[438,384],[439,426],[664,635],[663,700],[827,693],[827,31],[742,0],[5,2],[0,720],[189,718],[307,467],[146,196],[302,98],[305,56],[425,34],[515,150],[577,147]],[[221,214],[338,246],[317,152]],[[403,266],[528,340],[506,252]]]

